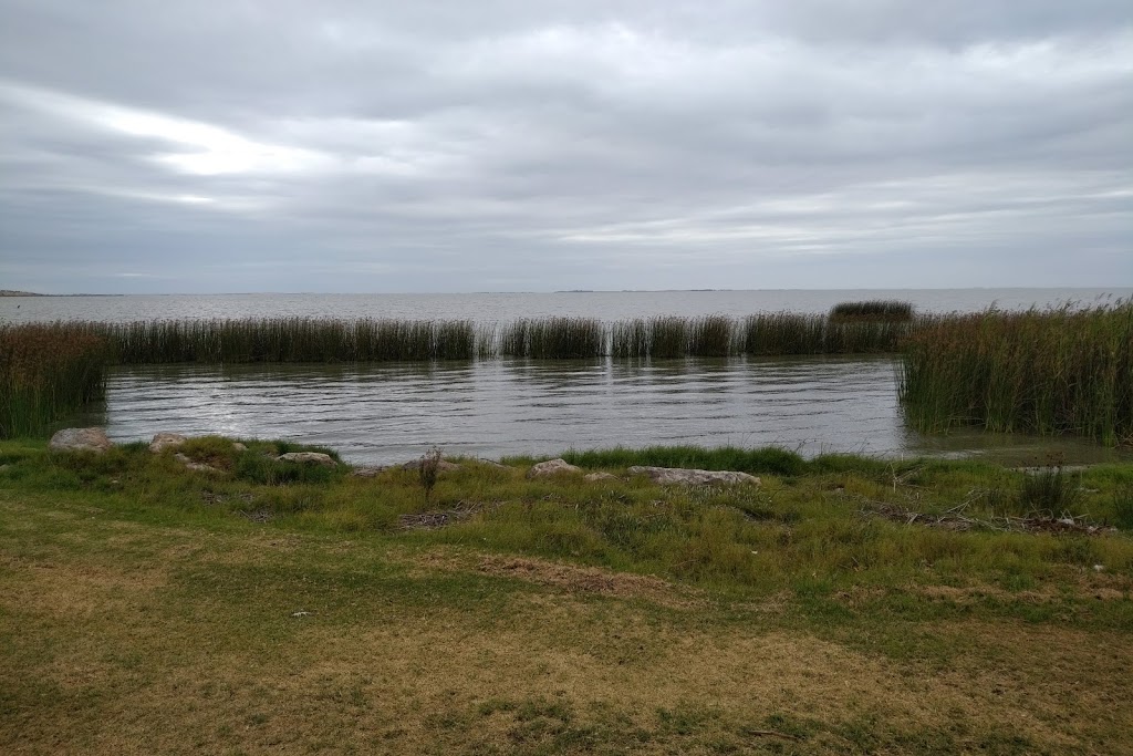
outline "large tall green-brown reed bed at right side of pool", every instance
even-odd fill
[[[1133,442],[1133,303],[922,321],[900,394],[921,431],[978,425]]]

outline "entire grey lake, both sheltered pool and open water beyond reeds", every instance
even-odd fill
[[[506,322],[547,315],[613,321],[826,312],[837,301],[867,298],[905,299],[922,312],[949,312],[1131,294],[964,289],[48,297],[0,299],[0,315],[19,321],[369,316]],[[104,405],[67,424],[103,425],[117,441],[144,440],[157,431],[281,438],[332,447],[360,464],[403,461],[432,444],[446,455],[486,458],[676,443],[777,444],[806,456],[993,455],[1019,464],[1127,455],[1074,440],[914,433],[901,415],[897,369],[891,357],[118,367],[110,373]]]

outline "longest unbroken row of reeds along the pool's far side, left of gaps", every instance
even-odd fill
[[[471,321],[266,320],[85,323],[114,360],[146,363],[333,363],[471,359]]]

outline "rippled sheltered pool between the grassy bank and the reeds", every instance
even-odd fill
[[[500,360],[365,366],[117,369],[99,424],[117,441],[157,431],[291,439],[355,462],[499,458],[569,448],[780,444],[811,456],[991,453],[1041,461],[1111,456],[1093,444],[908,431],[888,358]]]

